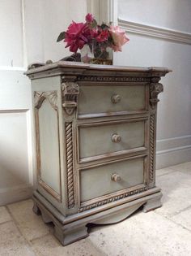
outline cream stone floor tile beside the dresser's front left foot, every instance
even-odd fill
[[[36,215],[32,211],[32,206],[32,200],[8,205],[20,232],[28,241],[49,233],[49,226],[43,222],[41,215]]]

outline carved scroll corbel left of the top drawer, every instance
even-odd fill
[[[67,115],[72,115],[77,106],[79,85],[74,82],[62,83],[62,106]]]

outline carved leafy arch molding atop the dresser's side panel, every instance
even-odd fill
[[[57,91],[51,92],[34,92],[34,104],[37,109],[42,106],[42,103],[48,99],[49,103],[57,110]]]

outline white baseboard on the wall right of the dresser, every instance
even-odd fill
[[[191,161],[191,136],[159,140],[156,145],[156,169]]]

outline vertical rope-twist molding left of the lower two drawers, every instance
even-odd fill
[[[74,207],[74,167],[73,167],[73,139],[72,122],[66,123],[66,168],[68,207]]]

